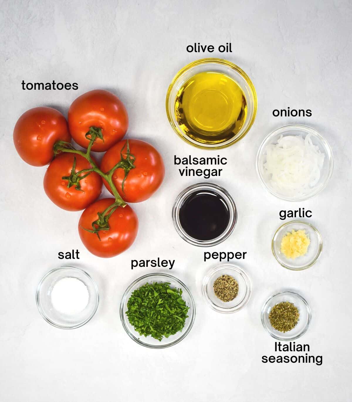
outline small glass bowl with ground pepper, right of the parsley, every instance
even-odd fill
[[[212,268],[203,279],[202,293],[213,310],[234,313],[249,301],[252,283],[242,268],[234,264],[221,264]]]

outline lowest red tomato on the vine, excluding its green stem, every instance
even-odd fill
[[[98,219],[98,212],[103,212],[115,199],[104,198],[85,209],[78,222],[78,232],[84,246],[98,257],[110,258],[127,250],[134,242],[138,231],[138,218],[133,209],[117,207],[109,218],[109,229],[100,230],[99,237],[92,230],[92,224]]]

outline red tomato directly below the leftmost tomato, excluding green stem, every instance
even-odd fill
[[[101,176],[95,172],[79,180],[80,189],[75,185],[68,188],[68,180],[62,177],[70,176],[74,158],[76,168],[74,172],[91,168],[91,164],[83,156],[75,154],[60,154],[51,162],[44,176],[44,190],[54,204],[66,211],[80,211],[85,209],[101,194]],[[80,174],[83,176],[85,173]]]

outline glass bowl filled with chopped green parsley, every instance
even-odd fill
[[[121,322],[130,338],[152,349],[167,348],[185,338],[195,313],[187,286],[166,273],[136,279],[126,289],[120,306]]]

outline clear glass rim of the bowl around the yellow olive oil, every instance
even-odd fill
[[[253,114],[251,117],[251,120],[249,122],[249,125],[247,127],[247,129],[245,131],[243,131],[243,133],[237,137],[236,139],[234,139],[233,141],[229,142],[228,144],[223,144],[223,145],[218,145],[218,146],[207,146],[206,144],[194,144],[193,142],[189,141],[187,139],[187,137],[183,136],[182,133],[178,130],[178,128],[173,124],[172,121],[172,117],[169,113],[169,101],[170,101],[170,94],[171,94],[171,90],[176,82],[176,80],[183,74],[185,73],[187,70],[190,70],[193,67],[199,66],[201,64],[209,64],[209,63],[215,63],[215,64],[220,64],[222,66],[228,66],[231,67],[233,70],[235,70],[239,75],[242,76],[242,78],[247,82],[251,94],[253,96]],[[173,78],[173,80],[171,81],[171,84],[169,85],[169,88],[167,90],[167,94],[166,94],[166,114],[167,114],[167,119],[169,120],[169,123],[171,125],[171,127],[173,128],[173,130],[175,131],[175,133],[181,138],[183,139],[183,141],[187,142],[187,144],[190,144],[191,146],[195,147],[195,148],[200,148],[200,149],[204,149],[204,150],[219,150],[222,148],[227,148],[233,144],[235,144],[236,142],[239,142],[240,139],[242,139],[247,133],[248,131],[251,129],[254,120],[255,120],[255,116],[257,114],[257,92],[255,91],[255,87],[253,85],[253,82],[251,81],[251,79],[249,78],[249,76],[247,76],[247,74],[236,64],[229,62],[228,60],[225,59],[219,59],[216,57],[208,57],[208,58],[204,58],[204,59],[198,59],[195,60],[189,64],[187,64],[186,66],[184,66],[183,68],[181,68],[181,70],[179,70],[179,72],[175,75],[175,77]]]

